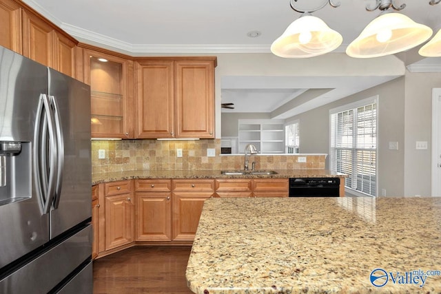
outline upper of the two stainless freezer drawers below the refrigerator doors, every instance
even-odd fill
[[[90,224],[0,280],[3,294],[43,294],[68,277],[92,253]],[[91,277],[88,277],[90,282]]]

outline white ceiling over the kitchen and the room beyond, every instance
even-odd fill
[[[272,41],[300,16],[291,10],[289,0],[23,1],[79,41],[132,56],[267,53]],[[333,1],[340,1],[340,6],[327,5],[314,12],[314,16],[342,34],[343,43],[335,52],[345,52],[347,45],[380,12],[365,10],[366,6],[375,5],[374,0]],[[318,7],[320,3],[324,1],[296,2],[300,10]],[[407,7],[401,13],[414,21],[429,25],[434,31],[441,28],[441,3],[435,6],[430,6],[429,0],[397,0],[396,3],[397,6],[405,3]],[[247,32],[254,30],[261,32],[260,36],[248,37]],[[429,59],[428,63],[441,62]],[[254,77],[256,81],[250,81],[251,77],[244,76],[240,85],[239,81],[232,82],[230,78],[222,77],[222,102],[235,103],[234,112],[274,112],[308,89],[334,89],[332,96],[338,98],[340,95],[341,98],[344,97],[341,95],[347,96],[390,79],[378,76],[307,77],[305,81],[296,78],[296,81],[272,83],[265,77]],[[321,99],[314,105],[328,102]],[[298,113],[301,107],[296,107],[297,110],[279,118]]]

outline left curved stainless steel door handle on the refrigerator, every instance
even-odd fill
[[[57,132],[47,95],[40,94],[34,129],[34,175],[41,214],[49,213],[58,174]]]

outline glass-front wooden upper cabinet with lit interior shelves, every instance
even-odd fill
[[[133,61],[90,49],[79,56],[90,85],[92,138],[134,138]]]

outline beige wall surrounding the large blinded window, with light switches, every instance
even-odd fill
[[[335,103],[294,116],[300,120],[300,152],[329,152],[329,109],[378,95],[378,195],[431,195],[432,88],[441,73],[411,73]],[[427,150],[416,150],[416,141]],[[398,142],[398,150],[389,150]],[[327,162],[327,166],[328,162]]]

